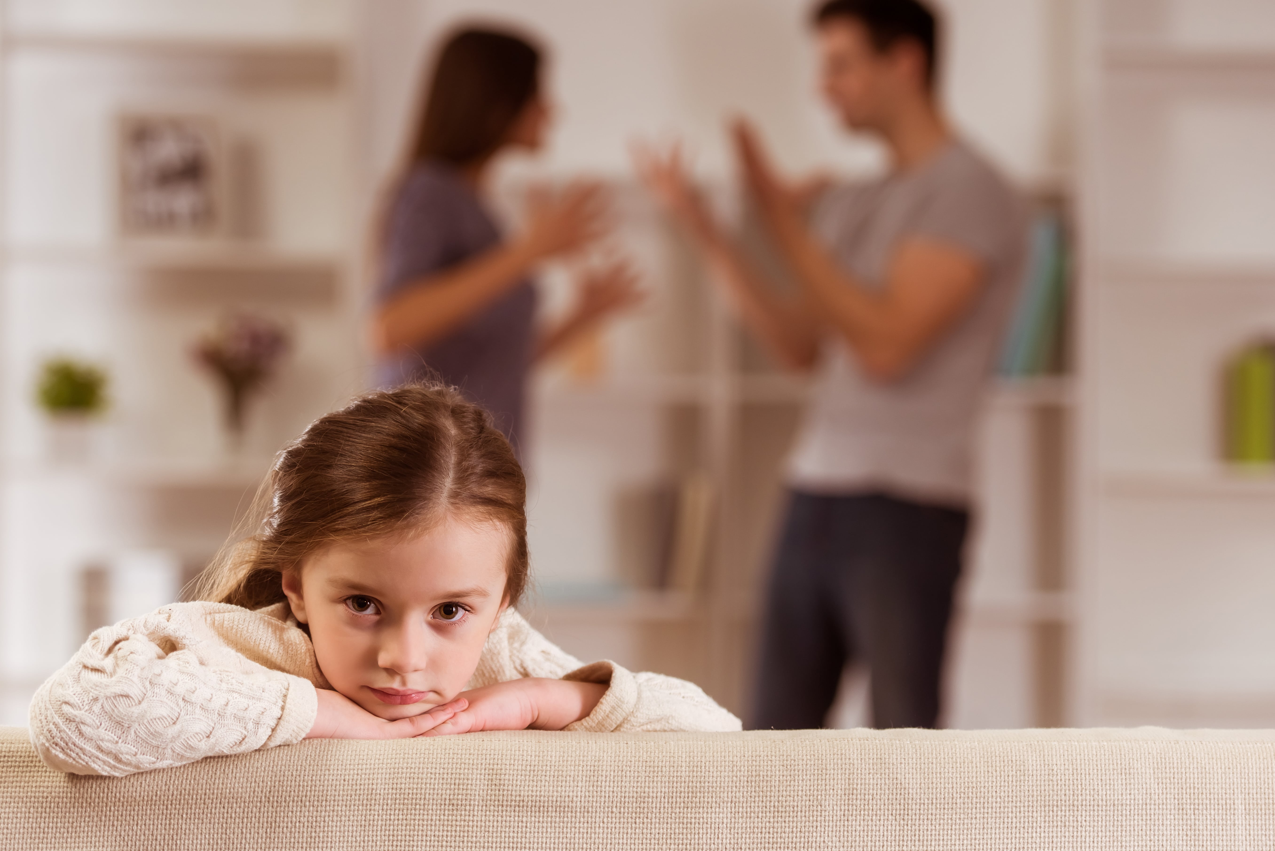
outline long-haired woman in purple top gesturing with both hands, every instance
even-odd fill
[[[372,322],[382,387],[426,375],[453,385],[491,411],[515,448],[530,366],[639,298],[627,264],[595,266],[561,324],[533,327],[533,269],[607,232],[595,183],[534,192],[511,237],[488,211],[497,154],[543,145],[552,113],[541,65],[533,45],[505,32],[463,29],[442,46],[385,219]]]

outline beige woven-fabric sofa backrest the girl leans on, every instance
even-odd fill
[[[3,727],[0,848],[1275,848],[1275,731],[491,733],[108,778]]]

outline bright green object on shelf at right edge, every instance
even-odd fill
[[[1275,343],[1246,345],[1224,376],[1227,460],[1275,464]]]

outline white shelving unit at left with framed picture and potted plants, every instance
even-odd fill
[[[340,0],[176,15],[150,0],[10,0],[3,13],[0,722],[20,724],[80,638],[84,567],[159,548],[198,569],[273,451],[365,386],[366,187],[358,45]],[[119,236],[125,112],[217,121],[233,181],[223,236]],[[189,352],[233,310],[283,321],[293,347],[228,455],[218,389]],[[80,464],[46,457],[32,403],[38,363],[62,353],[111,377],[111,410]]]

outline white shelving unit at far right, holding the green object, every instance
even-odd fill
[[[1275,15],[1086,15],[1071,712],[1270,726],[1275,475],[1220,461],[1220,377],[1275,330]]]

